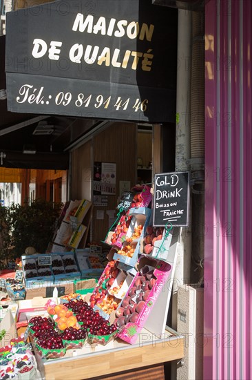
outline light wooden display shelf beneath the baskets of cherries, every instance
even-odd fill
[[[105,346],[86,345],[81,350],[69,350],[62,359],[45,361],[37,355],[36,359],[45,380],[83,380],[104,376],[106,379],[106,375],[125,371],[132,373],[183,356],[184,337],[167,327],[162,339],[143,330],[134,345],[116,339]]]

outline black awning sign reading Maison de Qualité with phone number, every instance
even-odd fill
[[[59,0],[6,17],[8,111],[174,122],[176,9]]]

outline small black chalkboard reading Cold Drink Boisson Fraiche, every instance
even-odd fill
[[[189,171],[155,174],[154,226],[187,226]]]

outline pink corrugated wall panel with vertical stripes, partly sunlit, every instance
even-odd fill
[[[251,1],[211,0],[205,15],[204,379],[249,380]]]

